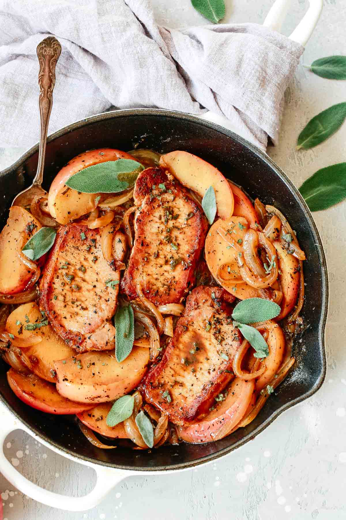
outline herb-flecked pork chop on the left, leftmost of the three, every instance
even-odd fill
[[[121,245],[124,237],[118,235]],[[61,226],[43,271],[39,305],[77,352],[110,349],[115,328],[109,320],[116,311],[119,280],[120,271],[103,257],[100,228]]]

